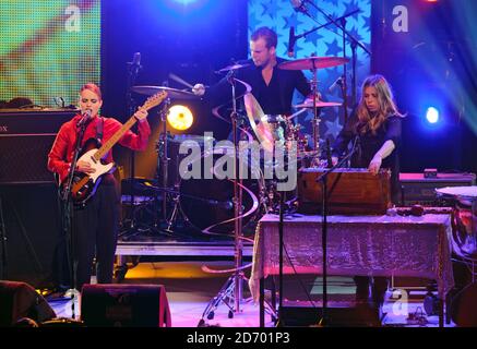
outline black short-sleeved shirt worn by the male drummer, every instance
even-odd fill
[[[285,61],[285,59],[277,58],[277,65]],[[265,115],[290,115],[295,88],[303,96],[308,96],[311,93],[310,85],[302,71],[283,70],[275,65],[273,68],[272,80],[266,85],[262,76],[262,68],[255,67],[251,59],[240,63],[250,65],[237,70],[236,79],[246,82],[252,87],[252,95]],[[242,95],[243,93],[245,87],[238,83],[237,95]],[[227,77],[211,86],[206,91],[204,98],[213,106],[229,101],[231,99],[231,87]]]

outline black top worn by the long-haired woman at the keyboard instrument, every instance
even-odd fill
[[[393,141],[395,148],[390,156],[383,159],[381,168],[391,169],[391,195],[395,204],[398,202],[400,193],[400,147],[401,147],[401,133],[402,133],[402,118],[400,116],[390,116],[383,122],[383,124],[377,130],[375,134],[370,131],[366,133],[359,132],[361,125],[358,121],[358,115],[356,110],[350,116],[348,122],[339,132],[334,145],[333,156],[341,157],[346,151],[348,144],[353,141],[356,142],[358,149],[351,157],[351,167],[368,168],[375,153],[383,146],[386,141]]]

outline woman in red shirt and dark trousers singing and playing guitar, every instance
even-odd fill
[[[121,124],[116,119],[98,116],[103,105],[102,93],[97,85],[85,84],[80,91],[81,115],[65,122],[55,140],[48,154],[48,169],[56,172],[62,183],[68,179],[76,139],[84,128],[81,140],[82,154],[88,153],[100,157],[80,155],[74,168],[74,180],[85,179],[84,188],[71,191],[75,205],[72,209],[72,255],[73,286],[81,291],[84,284],[90,284],[93,258],[96,256],[96,275],[98,284],[112,282],[114,258],[119,230],[120,196],[117,182],[110,173],[112,168],[111,147],[116,142],[131,149],[144,151],[151,128],[147,123],[147,109],[140,108],[131,119]],[[138,134],[129,129],[139,121]],[[117,139],[117,141],[116,141]],[[91,151],[88,145],[99,141],[98,151]],[[109,142],[108,142],[109,141]],[[95,153],[96,152],[96,153]],[[105,169],[108,172],[103,173]],[[98,173],[100,176],[98,176]],[[75,183],[73,182],[74,188]],[[80,185],[76,183],[76,186]],[[80,185],[81,186],[81,185]]]

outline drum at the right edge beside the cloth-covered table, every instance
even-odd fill
[[[477,186],[446,186],[436,189],[438,198],[454,209],[453,252],[477,261]]]

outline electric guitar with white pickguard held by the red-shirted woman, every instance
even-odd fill
[[[150,110],[158,106],[167,97],[166,92],[159,92],[147,98],[140,109]],[[102,147],[98,142],[90,139],[83,145],[79,161],[87,161],[95,169],[93,173],[74,172],[71,185],[71,198],[75,205],[85,205],[86,202],[96,193],[96,189],[105,173],[112,172],[115,163],[105,164],[103,158],[108,154],[112,146],[121,140],[124,133],[131,129],[138,120],[131,117]]]

